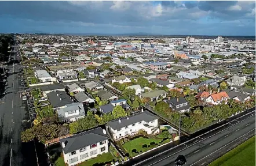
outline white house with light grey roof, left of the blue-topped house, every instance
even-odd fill
[[[71,103],[57,110],[58,118],[62,122],[74,122],[85,117],[85,109],[81,103]]]

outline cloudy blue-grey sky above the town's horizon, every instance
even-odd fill
[[[255,35],[255,1],[0,1],[0,33]]]

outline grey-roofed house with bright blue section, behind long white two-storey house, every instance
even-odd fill
[[[111,101],[109,104],[101,105],[100,111],[103,112],[104,114],[107,114],[109,112],[112,112],[115,106],[117,105],[122,106],[125,110],[130,108],[130,105],[126,103],[125,99],[120,99],[120,100]]]

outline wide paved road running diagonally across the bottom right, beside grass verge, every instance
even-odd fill
[[[186,157],[185,165],[207,165],[227,150],[231,150],[232,145],[237,146],[253,135],[255,135],[255,111],[233,120],[220,131],[204,134],[178,148],[162,152],[158,156],[151,157],[147,161],[144,159],[134,165],[175,165],[174,160],[180,154]]]

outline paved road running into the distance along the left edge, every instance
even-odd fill
[[[17,55],[12,56],[12,61]],[[35,165],[35,150],[31,143],[22,143],[21,131],[30,123],[26,105],[20,98],[20,65],[8,65],[6,95],[0,99],[0,165]]]

